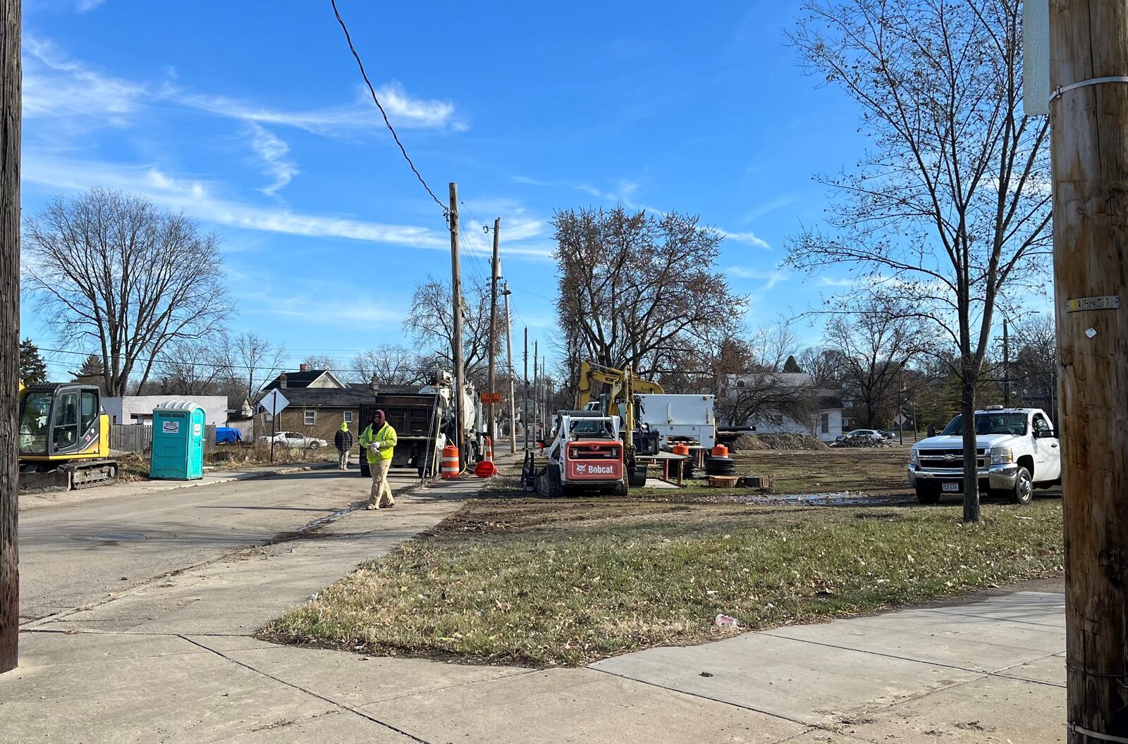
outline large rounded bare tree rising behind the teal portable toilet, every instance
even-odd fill
[[[213,333],[231,312],[219,238],[121,192],[56,197],[24,228],[27,285],[68,343],[92,344],[106,395],[142,383],[168,344]]]

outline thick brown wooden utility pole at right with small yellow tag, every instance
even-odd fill
[[[1068,742],[1128,741],[1128,3],[1050,2]],[[1101,78],[1105,78],[1101,80]]]

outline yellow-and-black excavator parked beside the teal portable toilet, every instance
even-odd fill
[[[96,386],[19,384],[19,487],[71,490],[117,480],[109,416]]]

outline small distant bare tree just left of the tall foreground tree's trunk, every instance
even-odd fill
[[[827,324],[826,345],[839,365],[844,392],[862,409],[865,427],[888,423],[902,382],[898,375],[922,342],[919,324],[899,312],[839,316]]]

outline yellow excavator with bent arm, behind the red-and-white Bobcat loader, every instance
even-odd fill
[[[600,396],[598,400],[592,399],[592,383],[600,382],[607,386],[607,397]],[[591,362],[580,362],[580,379],[576,384],[575,407],[578,409],[590,409],[598,407],[605,415],[618,413],[623,420],[624,439],[624,464],[627,471],[627,482],[632,487],[646,485],[646,467],[638,467],[635,458],[637,454],[656,454],[658,435],[647,437],[646,433],[637,427],[638,400],[635,396],[666,392],[662,386],[650,380],[643,380],[635,374],[634,370],[616,370],[610,366],[602,366]],[[617,408],[617,411],[615,410]]]

